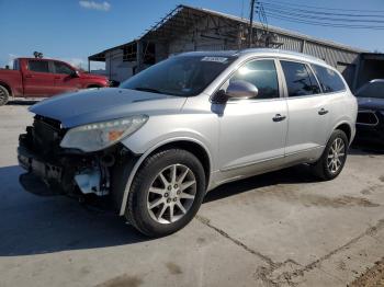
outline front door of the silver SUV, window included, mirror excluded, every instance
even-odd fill
[[[251,60],[233,80],[255,84],[255,99],[229,99],[219,117],[219,167],[225,179],[273,170],[283,162],[287,106],[274,59]],[[280,67],[280,66],[279,66]]]

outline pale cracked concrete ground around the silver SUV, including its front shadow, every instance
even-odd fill
[[[114,214],[21,188],[29,104],[0,107],[1,287],[382,283],[383,151],[351,150],[331,182],[297,167],[221,186],[188,227],[148,240]]]

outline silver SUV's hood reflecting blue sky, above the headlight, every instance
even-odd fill
[[[82,90],[56,95],[30,107],[32,113],[61,123],[64,128],[131,115],[176,113],[187,97],[118,88]]]

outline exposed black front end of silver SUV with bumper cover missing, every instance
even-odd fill
[[[117,144],[98,152],[59,146],[66,130],[56,120],[35,116],[33,126],[20,135],[18,160],[27,172],[20,183],[36,195],[104,196],[111,192],[111,172],[132,153]]]

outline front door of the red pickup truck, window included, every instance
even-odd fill
[[[55,93],[77,91],[81,88],[80,79],[75,70],[63,61],[53,61],[55,72]]]

